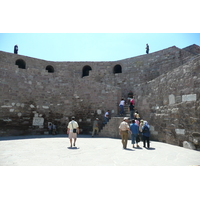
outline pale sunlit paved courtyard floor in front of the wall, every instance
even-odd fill
[[[151,148],[122,149],[120,139],[79,135],[69,147],[66,135],[0,138],[0,166],[197,166],[200,152],[161,142]]]

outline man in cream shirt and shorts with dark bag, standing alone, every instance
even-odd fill
[[[75,121],[75,117],[72,117],[72,120],[69,122],[67,126],[67,134],[69,135],[70,140],[70,147],[72,147],[72,139],[74,139],[74,146],[76,146],[76,139],[77,139],[77,133],[80,133],[79,125]]]

